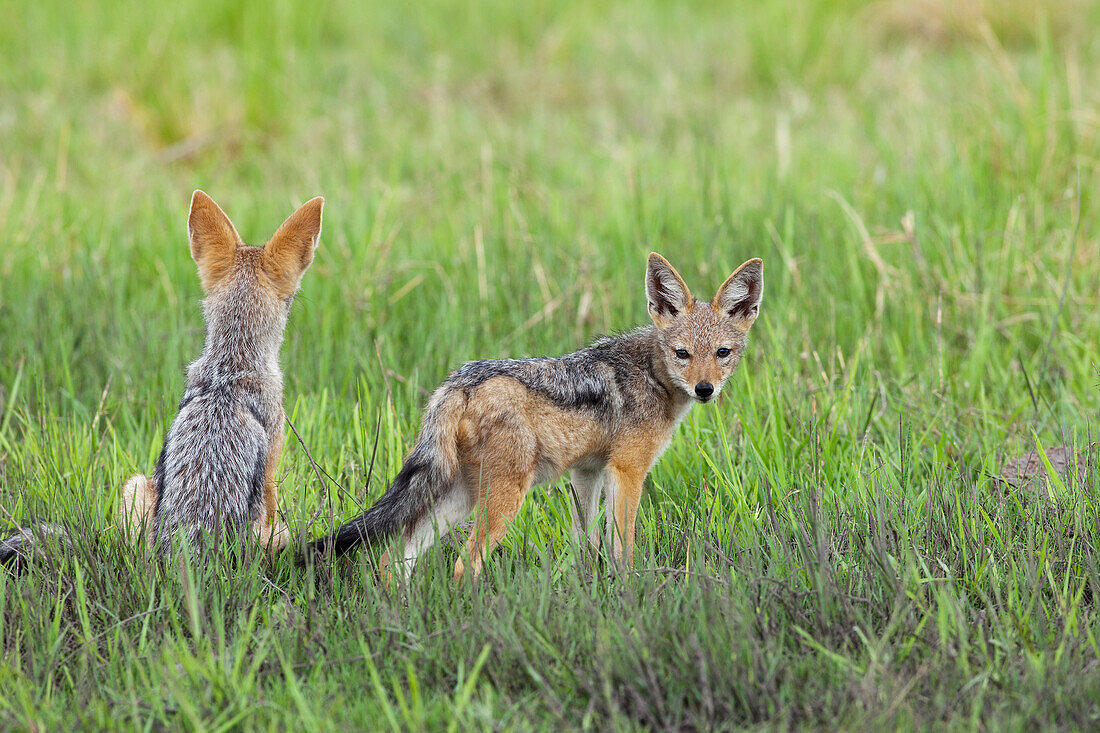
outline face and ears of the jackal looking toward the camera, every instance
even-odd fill
[[[749,260],[710,302],[696,300],[680,273],[652,252],[646,267],[649,316],[657,325],[658,360],[676,389],[710,402],[737,368],[760,310],[763,262]]]

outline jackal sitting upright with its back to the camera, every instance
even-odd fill
[[[301,275],[321,233],[317,197],[283,222],[264,247],[245,247],[213,199],[196,190],[187,218],[207,321],[202,354],[187,369],[179,414],[152,480],[122,490],[128,538],[145,534],[162,554],[252,533],[271,553],[288,540],[276,522],[275,467],[283,451],[279,346]]]

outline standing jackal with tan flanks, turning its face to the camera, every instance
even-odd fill
[[[416,447],[386,493],[310,551],[342,555],[400,534],[410,569],[437,534],[476,508],[466,543],[476,578],[531,485],[570,471],[574,536],[587,528],[598,545],[592,524],[603,494],[612,556],[629,564],[646,474],[692,402],[716,397],[737,366],[762,287],[763,263],[749,260],[712,300],[696,300],[672,265],[650,254],[652,326],[556,359],[454,371],[431,395]],[[388,575],[389,553],[383,564]],[[463,571],[459,559],[455,579]]]

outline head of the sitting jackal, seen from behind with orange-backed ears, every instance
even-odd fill
[[[248,247],[213,199],[195,192],[187,237],[207,295],[208,342],[226,338],[257,350],[277,348],[301,275],[314,261],[323,204],[320,196],[306,201],[266,244]]]

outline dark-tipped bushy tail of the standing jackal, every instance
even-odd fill
[[[425,411],[416,447],[382,499],[333,534],[308,545],[299,559],[339,557],[360,544],[392,537],[424,516],[458,474],[457,431],[465,403],[461,392],[440,387]]]

